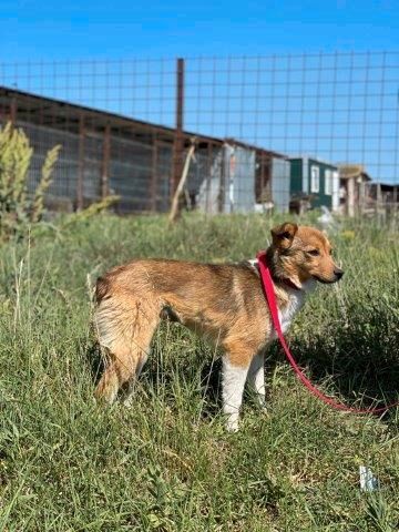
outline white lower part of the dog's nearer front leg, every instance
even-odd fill
[[[227,357],[223,357],[223,412],[227,416],[227,430],[238,430],[239,407],[243,402],[248,367],[233,366]]]

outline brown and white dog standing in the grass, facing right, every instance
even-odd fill
[[[313,227],[285,223],[272,229],[267,264],[274,279],[283,331],[316,282],[335,283],[344,272],[326,236]],[[143,368],[163,318],[178,321],[222,347],[223,410],[237,430],[244,386],[265,400],[264,354],[276,337],[256,262],[236,265],[137,259],[111,269],[96,283],[95,324],[109,362],[95,395],[113,402]]]

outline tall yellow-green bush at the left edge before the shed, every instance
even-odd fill
[[[33,194],[28,191],[28,174],[33,149],[21,129],[11,123],[0,127],[0,242],[22,234],[30,224],[38,223],[44,213],[44,194],[51,184],[51,174],[61,146],[45,156],[41,178]]]

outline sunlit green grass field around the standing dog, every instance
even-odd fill
[[[381,419],[329,409],[276,347],[267,411],[247,397],[236,434],[219,411],[218,354],[175,324],[156,334],[133,408],[92,398],[99,274],[136,256],[253,257],[278,221],[193,215],[168,228],[163,217],[99,216],[2,247],[1,531],[398,530],[398,409]],[[340,400],[393,400],[398,235],[347,221],[331,236],[346,275],[308,299],[294,354]],[[360,464],[378,492],[359,491]]]

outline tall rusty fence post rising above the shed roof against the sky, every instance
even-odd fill
[[[176,61],[176,129],[173,143],[173,167],[171,182],[171,201],[177,188],[182,170],[183,170],[183,152],[184,152],[184,59],[178,58]]]

